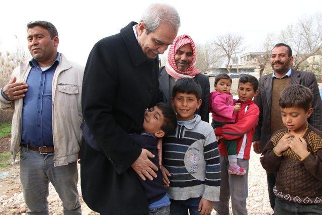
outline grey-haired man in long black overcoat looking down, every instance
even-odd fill
[[[152,180],[157,167],[129,133],[141,133],[144,110],[157,103],[157,55],[172,44],[179,26],[175,8],[153,4],[138,24],[100,40],[89,55],[83,115],[103,153],[83,139],[81,185],[84,201],[101,214],[149,213],[136,174]]]

